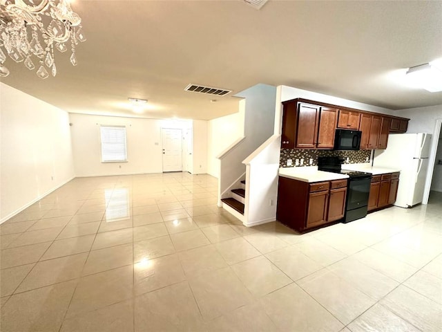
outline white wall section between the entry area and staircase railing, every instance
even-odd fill
[[[209,121],[207,147],[207,173],[220,176],[220,160],[216,157],[233,142],[244,136],[244,108]]]

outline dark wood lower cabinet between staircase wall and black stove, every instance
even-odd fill
[[[343,218],[346,197],[347,180],[307,183],[280,176],[276,219],[300,232],[327,225]]]

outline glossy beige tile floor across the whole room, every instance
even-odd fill
[[[442,194],[301,235],[217,183],[76,178],[0,225],[0,330],[442,331]]]

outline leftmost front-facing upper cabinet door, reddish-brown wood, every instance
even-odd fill
[[[298,104],[298,149],[314,149],[318,139],[318,122],[320,107],[311,104]]]

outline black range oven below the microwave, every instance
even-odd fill
[[[343,219],[343,223],[348,223],[349,221],[361,219],[367,215],[372,174],[341,169],[343,162],[343,157],[319,157],[318,170],[349,176],[345,216]]]

